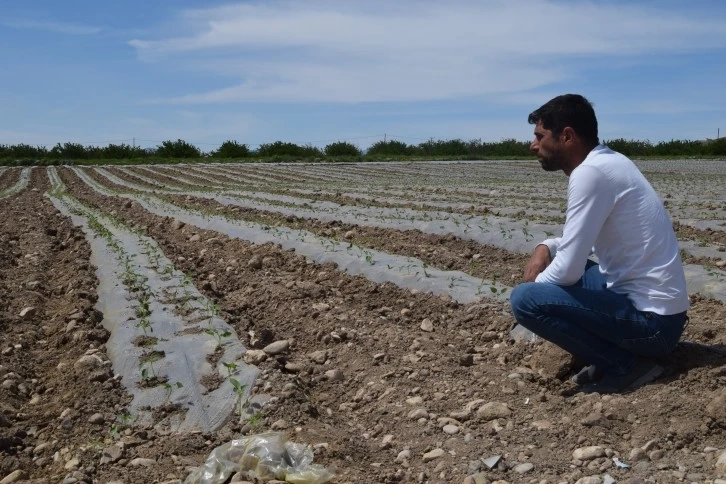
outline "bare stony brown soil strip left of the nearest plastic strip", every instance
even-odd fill
[[[0,476],[21,470],[60,482],[66,460],[95,467],[128,397],[111,368],[77,363],[106,360],[90,249],[43,197],[44,169],[33,170],[30,186],[4,200],[0,216]]]

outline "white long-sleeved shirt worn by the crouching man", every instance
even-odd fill
[[[607,288],[640,311],[689,306],[678,241],[663,203],[635,164],[598,145],[570,174],[562,237],[544,242],[552,263],[536,282],[576,283],[594,253]]]

